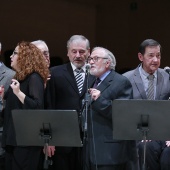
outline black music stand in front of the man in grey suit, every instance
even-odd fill
[[[170,101],[114,100],[112,111],[114,139],[144,140],[145,169],[146,140],[170,139]]]

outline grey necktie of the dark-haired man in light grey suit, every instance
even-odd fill
[[[147,99],[154,100],[154,75],[150,74],[147,78],[148,78]]]

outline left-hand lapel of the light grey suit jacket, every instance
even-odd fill
[[[142,99],[146,99],[147,98],[146,92],[145,92],[143,82],[142,82],[142,79],[141,79],[141,76],[139,73],[139,67],[135,69],[133,79],[134,79],[136,88],[137,88],[138,92],[140,93]]]

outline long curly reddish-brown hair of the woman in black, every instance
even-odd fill
[[[31,42],[22,41],[18,43],[18,59],[15,78],[24,80],[27,75],[37,72],[47,81],[49,69],[42,52]]]

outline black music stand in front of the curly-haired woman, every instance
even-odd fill
[[[81,147],[75,110],[13,110],[18,146],[45,146],[44,169],[48,169],[47,146]]]

